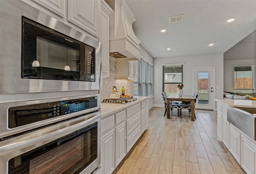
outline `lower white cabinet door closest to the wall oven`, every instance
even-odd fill
[[[115,169],[115,129],[101,136],[102,174],[111,174]]]

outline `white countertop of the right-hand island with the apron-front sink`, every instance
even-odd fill
[[[256,100],[232,100],[232,99],[215,99],[230,107],[256,108]]]

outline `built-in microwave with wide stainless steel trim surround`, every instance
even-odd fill
[[[1,17],[0,94],[101,89],[96,38],[23,1],[2,4],[11,18]]]

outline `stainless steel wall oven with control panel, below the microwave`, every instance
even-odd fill
[[[97,170],[99,97],[0,104],[1,173],[90,174]]]

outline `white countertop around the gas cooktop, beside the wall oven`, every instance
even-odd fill
[[[137,96],[136,98],[137,98],[137,100],[135,100],[134,102],[127,103],[127,104],[101,103],[100,104],[101,119],[111,116],[112,114],[120,112],[128,107],[134,106],[140,102],[143,102],[144,100],[147,100],[150,97],[142,97],[142,96],[138,97]]]

